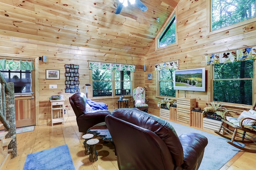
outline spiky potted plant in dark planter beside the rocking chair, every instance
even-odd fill
[[[216,102],[211,102],[207,104],[208,106],[204,107],[203,114],[207,114],[206,117],[209,119],[215,119],[221,121],[224,118],[224,113],[227,111],[222,104]]]

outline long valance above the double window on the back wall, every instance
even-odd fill
[[[89,62],[89,69],[91,70],[118,70],[118,71],[135,71],[135,65],[118,64],[118,63],[102,63]]]

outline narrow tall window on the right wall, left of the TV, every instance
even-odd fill
[[[159,70],[159,96],[175,97],[174,69]]]

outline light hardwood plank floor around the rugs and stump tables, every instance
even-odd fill
[[[98,161],[90,162],[84,154],[83,133],[78,132],[76,121],[51,126],[36,126],[34,131],[17,134],[18,156],[11,159],[8,170],[22,170],[27,154],[38,152],[60,145],[68,145],[76,170],[118,170],[114,146],[111,143],[96,145]],[[225,152],[225,150],[223,151]],[[213,155],[212,161],[218,159]],[[255,153],[240,151],[221,170],[252,170],[255,169]]]

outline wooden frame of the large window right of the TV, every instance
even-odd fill
[[[213,98],[214,98],[214,96],[213,96],[213,94],[214,94],[214,92],[213,92],[213,90],[214,90],[214,88],[213,88],[214,81],[215,80],[226,80],[226,81],[228,81],[228,80],[231,80],[231,79],[230,78],[229,79],[215,79],[214,78],[214,64],[211,64],[210,66],[211,66],[211,68],[210,68],[210,70],[211,70],[210,100],[214,101],[213,100]],[[256,92],[256,87],[255,87],[256,72],[255,72],[255,70],[256,70],[256,59],[253,59],[253,78],[237,78],[236,79],[236,80],[241,80],[241,79],[243,79],[243,80],[252,80],[252,104],[256,100],[256,94],[255,94],[255,92]],[[232,80],[235,80],[235,79],[232,79]],[[249,106],[252,106],[252,105],[228,103],[228,102],[221,102],[221,103],[224,104],[225,106],[231,106],[231,107],[237,107],[238,106],[238,107],[242,107],[242,108],[248,108]]]

